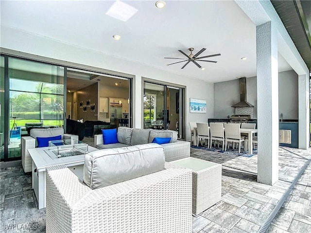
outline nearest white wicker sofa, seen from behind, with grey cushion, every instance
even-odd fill
[[[191,170],[165,164],[163,147],[151,143],[86,154],[84,181],[49,167],[46,232],[190,233]]]

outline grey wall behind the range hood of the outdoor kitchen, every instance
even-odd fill
[[[257,80],[246,78],[247,102],[254,105],[257,119]],[[278,111],[283,119],[298,119],[298,75],[292,71],[278,73]],[[234,114],[232,105],[240,102],[239,79],[214,84],[214,118],[227,118]]]

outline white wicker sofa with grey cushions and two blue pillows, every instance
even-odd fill
[[[190,142],[177,140],[177,132],[173,130],[118,127],[117,136],[119,143],[104,144],[102,134],[94,135],[94,144],[98,149],[108,149],[152,143],[155,137],[171,137],[170,143],[161,144],[164,148],[165,161],[170,162],[190,157]]]

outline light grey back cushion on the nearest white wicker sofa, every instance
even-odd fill
[[[83,182],[102,188],[164,169],[164,148],[155,143],[103,149],[86,154]]]

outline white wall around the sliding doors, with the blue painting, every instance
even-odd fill
[[[134,127],[142,127],[142,92],[141,77],[186,86],[186,126],[187,140],[190,140],[189,122],[207,122],[214,117],[214,85],[202,80],[184,77],[175,73],[165,72],[152,66],[132,62],[120,57],[100,53],[98,51],[77,47],[55,41],[25,31],[1,25],[1,48],[23,53],[35,54],[52,59],[82,64],[116,72],[135,75],[134,80]],[[64,62],[64,64],[66,64]],[[207,100],[207,113],[190,113],[190,97]]]

